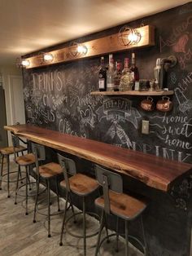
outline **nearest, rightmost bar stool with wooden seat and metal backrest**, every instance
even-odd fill
[[[116,251],[118,251],[118,223],[116,227],[116,233],[111,235],[107,234],[107,236],[103,238],[103,241],[100,241],[103,227],[107,224],[107,214],[115,215],[117,217],[117,221],[119,221],[119,218],[124,220],[125,256],[129,255],[129,237],[134,241],[137,241],[137,244],[142,247],[143,252],[146,255],[146,237],[142,223],[142,212],[146,209],[146,201],[123,193],[123,182],[120,174],[116,174],[110,170],[103,169],[101,166],[95,166],[95,171],[96,179],[98,180],[98,183],[103,187],[103,196],[100,196],[95,200],[95,205],[102,209],[102,217],[98,232],[98,242],[95,250],[95,256],[98,255],[98,251],[103,245],[103,242],[108,240],[110,236],[116,236]],[[140,217],[144,244],[136,236],[129,236],[128,225],[131,221],[133,221],[133,219],[137,217]]]

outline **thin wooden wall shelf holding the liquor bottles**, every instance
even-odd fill
[[[126,90],[126,91],[92,91],[91,95],[135,95],[135,96],[164,96],[173,95],[173,90]]]

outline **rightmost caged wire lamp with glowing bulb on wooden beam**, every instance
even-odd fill
[[[119,41],[123,46],[135,45],[140,42],[142,38],[141,33],[137,29],[131,29],[129,27],[122,27],[119,32]]]

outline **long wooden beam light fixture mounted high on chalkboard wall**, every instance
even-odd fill
[[[64,47],[55,51],[50,51],[49,54],[54,56],[54,60],[50,62],[42,62],[40,55],[34,55],[33,57],[26,59],[30,63],[30,65],[26,66],[26,68],[36,68],[48,64],[58,64],[73,60],[89,58],[96,55],[105,55],[112,52],[126,51],[133,48],[135,49],[138,47],[155,45],[155,27],[151,25],[132,29],[131,35],[133,39],[132,42],[125,44],[120,44],[120,33],[115,33],[111,36],[107,36],[104,38],[94,39],[89,42],[83,42],[81,44],[73,43],[73,45],[71,44],[68,47]],[[131,36],[130,38],[128,38],[128,40],[131,41],[130,39]]]

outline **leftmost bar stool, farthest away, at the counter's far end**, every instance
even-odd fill
[[[23,143],[24,141],[20,139]],[[18,138],[18,147],[15,148],[15,152],[17,156],[19,157],[19,152],[24,154],[24,151],[27,150],[27,148],[24,148],[23,146],[20,145],[20,141]],[[10,197],[10,183],[15,182],[15,180],[10,179],[10,174],[15,174],[17,172],[20,172],[20,169],[18,171],[10,171],[10,156],[14,154],[14,148],[7,147],[7,148],[0,148],[0,158],[2,158],[2,166],[1,166],[1,174],[0,174],[0,190],[2,190],[2,179],[3,177],[7,176],[7,197]],[[7,158],[7,173],[2,174],[3,172],[3,164],[4,164],[4,158]],[[20,173],[21,175],[21,173]]]

